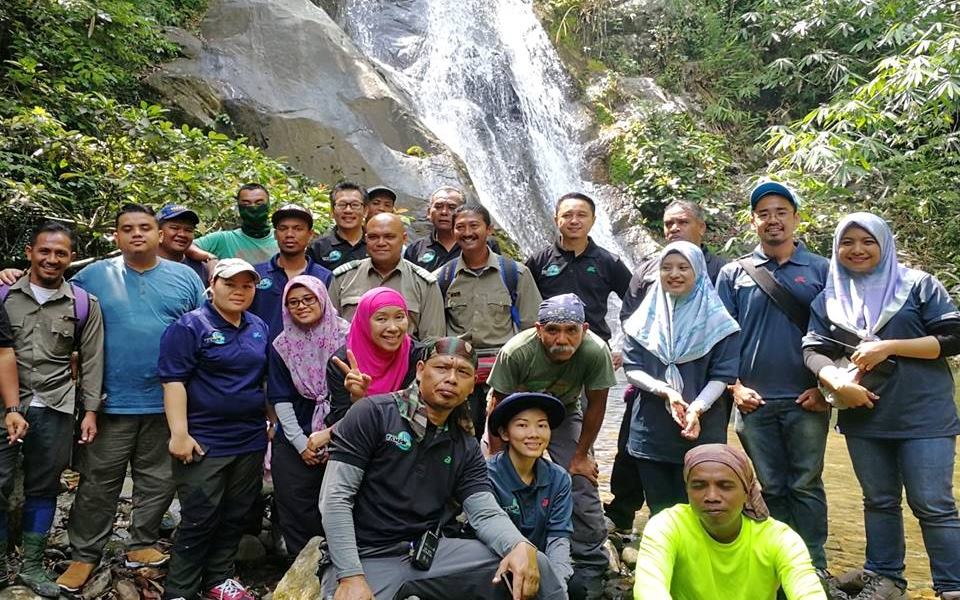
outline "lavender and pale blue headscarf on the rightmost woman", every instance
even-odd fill
[[[870,273],[854,273],[837,258],[840,239],[854,225],[873,236],[880,245],[880,262]],[[860,339],[876,339],[877,331],[903,308],[917,274],[918,271],[904,267],[897,260],[897,246],[886,221],[867,212],[847,215],[833,233],[830,274],[823,290],[827,317]]]

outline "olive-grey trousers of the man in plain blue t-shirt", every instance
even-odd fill
[[[87,563],[100,561],[110,539],[128,464],[133,473],[131,550],[156,543],[174,494],[167,452],[170,430],[164,415],[100,413],[97,430],[97,438],[80,456],[80,487],[67,528],[73,560]]]

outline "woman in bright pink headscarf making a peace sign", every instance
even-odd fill
[[[347,343],[327,365],[328,423],[339,421],[360,398],[396,392],[413,382],[423,349],[407,334],[409,318],[407,302],[397,291],[378,287],[360,297]]]

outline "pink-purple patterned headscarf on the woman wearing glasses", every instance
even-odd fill
[[[310,290],[323,307],[323,317],[307,328],[297,325],[287,308],[287,295],[298,285]],[[323,282],[310,275],[297,275],[287,282],[281,311],[283,331],[273,340],[273,348],[290,371],[300,395],[316,401],[311,424],[313,431],[319,431],[330,414],[327,360],[343,345],[349,324],[337,315]]]

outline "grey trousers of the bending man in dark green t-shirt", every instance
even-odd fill
[[[553,430],[547,451],[550,458],[563,468],[570,465],[577,449],[583,413],[567,411],[567,418]],[[590,450],[593,456],[593,450]],[[600,491],[581,475],[573,481],[573,536],[570,538],[570,556],[574,573],[588,579],[601,577],[607,571],[609,558],[603,543],[607,540],[607,526],[603,520]]]

